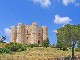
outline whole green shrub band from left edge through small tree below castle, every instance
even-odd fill
[[[20,52],[20,51],[25,51],[27,47],[49,47],[49,39],[46,39],[42,44],[19,44],[19,43],[7,43],[5,47],[0,48],[0,53],[11,53],[11,52]]]

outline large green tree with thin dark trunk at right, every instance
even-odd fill
[[[79,40],[78,26],[67,24],[57,30],[57,43],[65,42],[67,47],[72,46],[72,59],[74,60],[74,47]],[[72,45],[71,45],[72,44]]]

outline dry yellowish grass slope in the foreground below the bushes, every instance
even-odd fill
[[[80,52],[75,52],[75,55],[78,54]],[[64,56],[71,56],[71,50],[61,51],[51,47],[34,47],[22,52],[0,54],[0,60],[55,60],[55,58]]]

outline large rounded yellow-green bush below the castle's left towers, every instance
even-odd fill
[[[9,43],[6,45],[7,49],[10,49],[12,52],[16,51],[24,51],[27,48],[26,44],[19,44],[19,43]]]

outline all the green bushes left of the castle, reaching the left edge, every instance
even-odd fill
[[[0,53],[11,53],[17,51],[24,51],[26,50],[26,44],[19,44],[19,43],[8,43],[5,47],[0,48]]]

